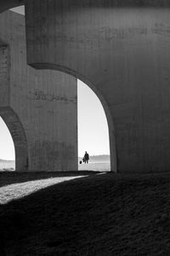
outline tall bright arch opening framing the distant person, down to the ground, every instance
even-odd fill
[[[105,110],[87,84],[77,81],[78,170],[111,171],[110,143]],[[88,164],[83,162],[85,151]],[[81,163],[82,162],[82,163]]]

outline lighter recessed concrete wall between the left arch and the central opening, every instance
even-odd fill
[[[16,171],[77,170],[77,79],[26,63],[25,17],[0,15],[0,115]]]

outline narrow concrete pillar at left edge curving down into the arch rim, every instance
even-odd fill
[[[8,126],[14,140],[15,166],[19,172],[27,172],[28,155],[26,134],[20,119],[10,105],[10,53],[8,45],[0,44],[0,116]]]

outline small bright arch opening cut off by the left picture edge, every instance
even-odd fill
[[[0,117],[0,172],[15,170],[14,141],[7,125]]]

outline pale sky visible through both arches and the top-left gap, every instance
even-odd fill
[[[14,9],[24,13],[23,8]],[[78,155],[110,154],[108,125],[99,98],[78,80]],[[14,143],[0,118],[0,159],[14,160]]]

